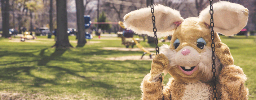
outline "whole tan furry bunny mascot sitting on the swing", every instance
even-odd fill
[[[217,100],[247,100],[248,89],[244,85],[246,75],[242,68],[234,65],[228,46],[221,43],[217,32],[226,36],[237,34],[247,23],[248,9],[229,2],[219,2],[213,6]],[[141,83],[142,100],[162,100],[163,96],[164,100],[213,99],[209,7],[204,9],[198,18],[184,20],[177,12],[162,5],[156,6],[154,14],[158,37],[172,34],[170,31],[174,32],[171,44],[160,47],[162,54],[155,56],[150,73]],[[125,27],[138,34],[153,36],[149,7],[128,13],[124,20]],[[174,23],[177,21],[182,23],[178,26]],[[205,42],[204,48],[198,47],[202,42],[201,38],[203,43]],[[176,39],[180,44],[175,49],[173,43]],[[184,50],[189,50],[189,54],[182,53]],[[172,76],[166,86],[160,82],[160,74],[163,71]]]

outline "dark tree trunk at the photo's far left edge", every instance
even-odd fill
[[[11,35],[9,34],[9,0],[1,0],[2,7],[2,29],[4,38],[8,38]]]

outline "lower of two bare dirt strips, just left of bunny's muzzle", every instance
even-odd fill
[[[146,54],[142,57],[141,56],[120,56],[120,57],[109,57],[107,60],[119,60],[119,61],[125,61],[125,60],[150,60],[152,61],[155,56],[152,56],[150,58],[149,54]]]

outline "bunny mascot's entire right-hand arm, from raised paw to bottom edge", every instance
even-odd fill
[[[219,89],[222,100],[247,100],[248,89],[244,86],[246,75],[242,68],[234,65],[233,57],[227,45],[216,42],[216,56],[223,68],[219,75]]]

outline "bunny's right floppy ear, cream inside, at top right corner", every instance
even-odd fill
[[[210,7],[200,12],[199,18],[206,24],[210,25],[211,15]],[[215,32],[219,32],[226,36],[237,34],[242,30],[248,21],[248,9],[242,5],[220,1],[213,4],[213,20]]]

